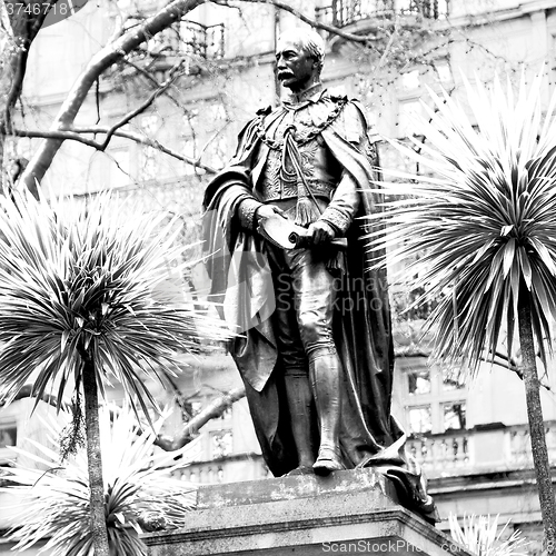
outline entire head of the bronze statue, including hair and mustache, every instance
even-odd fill
[[[320,81],[325,41],[312,29],[291,29],[276,46],[276,70],[284,87],[300,92]]]

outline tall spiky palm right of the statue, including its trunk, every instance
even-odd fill
[[[535,339],[546,364],[556,316],[556,96],[546,113],[542,77],[514,96],[512,85],[467,81],[468,111],[448,93],[430,93],[426,142],[396,145],[429,175],[384,169],[394,200],[375,218],[374,248],[410,261],[418,301],[439,298],[428,325],[435,355],[465,363],[471,375],[500,341],[519,338],[534,465],[546,546],[556,544],[556,508],[540,408]],[[369,222],[373,225],[373,222]]]

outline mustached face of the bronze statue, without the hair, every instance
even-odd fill
[[[284,87],[299,92],[315,82],[318,64],[298,42],[284,39],[276,49],[276,72]]]

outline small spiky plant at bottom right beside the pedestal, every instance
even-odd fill
[[[463,525],[459,525],[457,516],[450,514],[450,535],[456,543],[477,556],[527,556],[525,548],[528,543],[522,537],[520,530],[515,530],[503,540],[509,522],[498,532],[498,517],[464,515]]]

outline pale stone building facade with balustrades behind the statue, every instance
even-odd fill
[[[322,78],[327,87],[361,99],[384,138],[419,138],[427,88],[443,88],[457,98],[463,75],[471,81],[489,81],[496,71],[532,76],[543,68],[547,97],[556,82],[554,1],[297,0],[289,4],[345,33],[371,37],[363,43],[321,29],[327,40]],[[72,18],[42,30],[30,52],[18,125],[48,129],[72,83],[117,27],[132,29],[159,8],[153,0],[137,6],[89,2]],[[300,24],[294,14],[269,4],[246,2],[238,10],[210,3],[197,8],[105,72],[76,126],[97,126],[105,132],[115,127],[119,132],[105,151],[66,141],[44,182],[83,201],[106,188],[119,189],[132,207],[181,215],[183,240],[195,241],[211,169],[220,168],[234,152],[238,131],[255,111],[279,101],[281,91],[272,67],[276,38],[281,30]],[[167,95],[147,103],[161,86]],[[140,106],[145,107],[140,113],[118,127]],[[31,159],[37,145],[37,139],[18,138],[9,148],[13,159]],[[408,163],[386,141],[380,153],[385,167]],[[188,284],[190,294],[202,299],[208,288],[202,265],[192,267]],[[419,338],[425,315],[401,312],[410,297],[401,288],[393,286],[391,297],[397,351],[394,414],[408,434],[408,450],[428,476],[443,517],[439,526],[447,527],[449,513],[500,514],[502,522],[512,522],[509,529],[520,528],[532,539],[530,554],[540,554],[540,514],[518,374],[500,360],[481,368],[475,380],[461,381],[454,378],[455,369],[428,365],[429,346]],[[179,388],[195,411],[239,385],[224,353],[187,363]],[[556,397],[549,369],[544,380],[553,458]],[[121,398],[117,388],[111,398]],[[4,465],[9,459],[6,446],[20,446],[29,427],[36,426],[21,417],[24,404],[0,409]],[[172,419],[169,434],[179,428],[179,411]],[[268,476],[245,399],[211,420],[201,436],[198,460],[183,469],[183,480]],[[0,526],[6,528],[6,522]],[[0,554],[4,546],[0,544]]]

